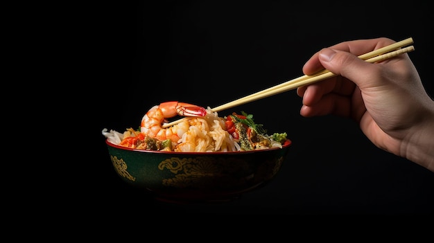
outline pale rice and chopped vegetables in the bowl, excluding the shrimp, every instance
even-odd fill
[[[234,114],[234,116],[235,115],[236,114]],[[173,141],[167,142],[171,144],[171,146],[168,147],[162,145],[164,141],[159,141],[157,138],[151,138],[148,136],[144,137],[144,134],[141,134],[139,131],[134,131],[132,128],[127,129],[125,132],[123,132],[123,134],[114,130],[107,132],[106,128],[103,129],[102,133],[110,143],[144,150],[160,150],[161,147],[164,147],[163,150],[174,152],[234,152],[246,150],[242,145],[240,145],[238,138],[235,139],[232,134],[229,134],[226,127],[227,125],[225,123],[227,121],[226,119],[227,117],[219,117],[217,112],[211,111],[210,107],[207,108],[207,114],[205,116],[187,117],[182,123],[168,128],[177,131],[176,133],[178,134],[179,138],[176,143]],[[232,119],[236,120],[238,118]],[[250,119],[248,122],[252,123],[252,125],[255,125],[252,121],[252,115],[249,115],[249,117],[245,119]],[[240,125],[238,124],[238,127],[239,126]],[[243,126],[250,128],[250,125]],[[255,126],[259,127],[259,125]],[[254,128],[252,127],[252,129]],[[247,129],[242,129],[240,131],[243,132],[244,130]],[[252,134],[243,134],[243,138],[239,138],[243,139],[243,143],[246,143],[247,140],[247,142],[252,145],[252,149],[248,150],[282,147],[281,143],[273,141],[271,136],[257,134],[255,131],[256,129],[250,132]],[[250,138],[250,136],[254,137]],[[286,139],[286,134],[284,134],[284,138]],[[128,143],[123,143],[126,139],[128,139]],[[253,139],[254,142],[250,139]]]

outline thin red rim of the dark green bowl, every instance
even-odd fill
[[[271,150],[282,150],[284,148],[290,147],[293,142],[286,138],[285,143],[282,145],[281,148],[279,147],[272,147],[268,148],[266,150],[250,150],[250,151],[231,151],[231,152],[173,152],[173,151],[156,151],[156,150],[138,150],[131,147],[123,147],[121,145],[116,145],[109,141],[108,138],[105,138],[105,143],[110,146],[114,147],[119,150],[126,150],[126,151],[134,151],[134,152],[143,152],[143,153],[150,153],[150,154],[197,154],[197,155],[205,155],[205,154],[252,154],[257,152],[267,152]]]

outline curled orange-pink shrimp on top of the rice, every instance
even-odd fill
[[[173,143],[177,143],[182,135],[189,130],[189,123],[183,120],[171,127],[163,128],[162,124],[167,121],[167,118],[179,116],[205,116],[207,110],[197,105],[189,103],[170,101],[155,105],[146,112],[141,119],[140,131],[144,136],[157,138],[159,141],[171,139]]]

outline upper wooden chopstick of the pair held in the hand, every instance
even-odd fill
[[[413,38],[410,37],[408,39],[404,39],[401,42],[396,42],[394,44],[390,44],[389,46],[384,46],[382,48],[376,49],[375,51],[371,51],[369,53],[365,53],[363,55],[359,55],[358,57],[360,59],[362,59],[362,60],[368,60],[368,59],[370,59],[372,57],[376,57],[378,55],[382,55],[384,53],[389,53],[390,51],[397,50],[397,49],[399,49],[399,48],[401,48],[403,46],[407,46],[408,44],[413,44]],[[402,53],[400,53],[400,54],[402,54]],[[388,57],[388,58],[390,58],[390,57]],[[375,62],[378,62],[378,61],[375,61]],[[290,87],[293,87],[293,85],[295,85],[295,83],[297,83],[297,82],[302,82],[303,80],[312,80],[316,76],[320,76],[320,77],[322,77],[322,79],[333,77],[333,75],[331,75],[331,76],[328,76],[328,75],[322,76],[325,73],[330,73],[330,71],[324,69],[324,70],[319,71],[317,73],[314,73],[312,75],[303,75],[303,76],[301,76],[299,78],[295,78],[293,80],[289,80],[287,82],[278,84],[278,85],[276,85],[274,87],[270,87],[268,89],[264,89],[264,90],[259,91],[257,93],[252,93],[251,95],[245,96],[243,98],[239,98],[238,100],[234,100],[234,101],[228,102],[228,103],[226,103],[224,105],[220,105],[218,107],[214,107],[211,110],[212,111],[222,111],[224,109],[229,109],[229,108],[232,108],[232,107],[236,107],[238,105],[243,105],[246,102],[252,102],[254,100],[259,100],[261,98],[266,98],[268,96],[272,96],[272,95],[277,94],[277,93],[270,93],[269,95],[264,95],[264,94],[267,94],[268,92],[271,92],[271,91],[274,91],[274,90],[278,90],[279,91],[278,93],[281,93],[281,92],[284,92],[284,91],[289,91],[290,89],[286,88],[288,85],[291,85]],[[320,80],[322,80],[322,79],[320,79]],[[317,79],[313,79],[313,80],[317,80]],[[313,81],[313,82],[317,82],[317,81]],[[304,83],[305,84],[303,84],[303,85],[309,84],[309,82],[307,82],[307,83],[304,82]],[[300,86],[303,86],[303,85],[300,85]],[[297,87],[295,87],[295,88],[297,88]]]

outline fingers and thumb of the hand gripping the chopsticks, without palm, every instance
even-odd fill
[[[337,75],[297,89],[297,95],[303,98],[300,114],[302,116],[335,114],[359,119],[365,111],[360,89],[380,86],[380,82],[383,81],[378,77],[385,73],[382,73],[384,71],[381,65],[365,62],[358,58],[358,55],[392,43],[394,41],[387,38],[362,39],[342,42],[315,53],[303,66],[303,72],[310,75],[327,69]],[[351,111],[351,108],[354,110]]]

